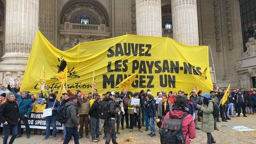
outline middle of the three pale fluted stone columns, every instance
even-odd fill
[[[136,0],[137,34],[162,37],[161,0]]]

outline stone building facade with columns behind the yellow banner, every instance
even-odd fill
[[[21,83],[38,29],[60,50],[124,34],[209,45],[213,55],[209,64],[216,73],[213,82],[219,87],[248,89],[256,75],[254,39],[248,42],[251,51],[243,52],[239,1],[2,0],[0,84],[6,85],[10,78]]]

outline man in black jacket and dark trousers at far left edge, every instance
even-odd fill
[[[12,137],[9,144],[12,144],[17,136],[17,127],[20,115],[18,113],[18,105],[15,102],[15,96],[13,93],[7,94],[7,102],[1,105],[0,108],[0,122],[4,127],[4,141],[3,144],[7,144],[10,130],[12,131]],[[11,113],[10,113],[11,112]]]

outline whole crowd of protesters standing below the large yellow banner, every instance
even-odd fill
[[[5,91],[2,87],[1,90]],[[21,121],[25,125],[27,139],[33,134],[44,135],[43,140],[52,135],[57,140],[56,121],[59,121],[64,128],[61,138],[63,143],[79,143],[79,139],[86,137],[91,138],[92,142],[104,139],[105,143],[112,141],[116,144],[117,135],[124,129],[128,129],[130,133],[143,133],[145,130],[148,132],[145,135],[149,137],[154,137],[159,132],[161,143],[190,143],[190,139],[196,137],[198,129],[206,132],[207,143],[216,143],[212,132],[219,130],[217,122],[227,122],[233,117],[241,116],[241,112],[244,117],[256,112],[254,89],[229,91],[224,105],[221,102],[226,89],[221,88],[204,92],[205,94],[202,91],[197,92],[196,89],[190,94],[163,90],[157,95],[152,94],[150,89],[134,93],[123,89],[120,93],[108,91],[103,95],[98,94],[97,89],[88,94],[79,89],[74,93],[66,89],[67,92],[62,94],[60,101],[56,100],[57,92],[51,93],[48,89],[47,94],[31,94],[27,91],[20,92],[18,85],[8,85],[8,90],[9,92],[0,96],[0,123],[3,124],[0,133],[3,135],[4,144],[7,143],[9,133],[12,135],[9,143],[23,136]],[[132,104],[133,98],[139,99],[139,104]],[[44,117],[45,130],[30,129],[28,117],[33,110],[33,103],[46,104],[45,108],[52,108],[52,116]],[[60,117],[61,114],[64,117]],[[53,127],[52,130],[50,126]],[[155,126],[159,129],[156,130]]]

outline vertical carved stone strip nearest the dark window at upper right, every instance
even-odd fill
[[[232,33],[232,17],[231,17],[231,2],[226,0],[226,16],[228,22],[228,43],[229,50],[233,49],[233,33]]]

